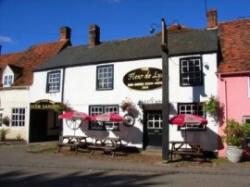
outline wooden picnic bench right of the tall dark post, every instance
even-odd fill
[[[203,157],[203,150],[201,145],[195,142],[182,142],[182,141],[171,141],[170,149],[170,161],[173,160],[173,156],[180,155],[182,157]]]

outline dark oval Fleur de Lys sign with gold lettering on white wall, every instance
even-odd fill
[[[123,82],[135,90],[153,90],[162,86],[162,70],[151,67],[135,69],[123,77]]]

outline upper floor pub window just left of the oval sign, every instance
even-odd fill
[[[97,90],[112,90],[113,89],[113,65],[98,66],[96,75]]]

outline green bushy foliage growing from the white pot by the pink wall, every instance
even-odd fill
[[[224,130],[227,144],[241,147],[245,140],[245,131],[243,125],[234,120],[228,120],[227,127]]]

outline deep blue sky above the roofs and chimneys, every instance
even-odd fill
[[[87,44],[90,24],[100,26],[101,41],[150,35],[161,18],[205,28],[206,7],[217,9],[219,22],[250,18],[250,0],[0,0],[1,53],[57,41],[61,26],[72,29],[74,46]]]

